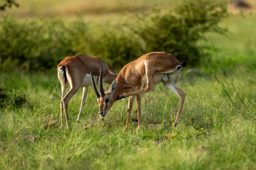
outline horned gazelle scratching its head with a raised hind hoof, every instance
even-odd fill
[[[141,127],[141,97],[142,93],[154,91],[154,84],[163,82],[164,86],[175,92],[180,98],[180,106],[176,119],[172,126],[175,126],[180,118],[180,113],[185,101],[186,93],[176,84],[181,75],[181,68],[186,66],[186,61],[180,63],[175,56],[167,52],[151,52],[145,54],[131,63],[126,64],[119,72],[116,80],[111,84],[108,92],[104,92],[102,85],[99,86],[100,96],[96,89],[91,74],[94,92],[99,104],[99,114],[106,116],[112,105],[122,98],[130,96],[128,104],[128,115],[125,129],[129,123],[132,105],[137,96],[138,129]],[[102,79],[101,77],[99,78]],[[99,83],[101,84],[101,83]]]

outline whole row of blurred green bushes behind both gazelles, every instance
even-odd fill
[[[166,51],[190,66],[200,63],[195,43],[218,26],[226,6],[207,0],[184,1],[174,10],[153,10],[125,24],[91,24],[80,18],[66,23],[51,18],[0,20],[0,70],[55,69],[66,56],[87,54],[108,59],[115,68],[147,52]],[[194,41],[194,43],[192,42]]]

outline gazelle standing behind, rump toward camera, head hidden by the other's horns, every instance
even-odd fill
[[[90,57],[88,55],[76,55],[73,57],[66,57],[61,63],[58,64],[58,79],[61,82],[61,126],[62,126],[62,113],[63,108],[66,116],[67,129],[69,128],[69,116],[67,112],[67,104],[73,95],[79,90],[80,87],[84,87],[81,107],[77,121],[79,121],[82,109],[85,104],[88,86],[91,85],[90,71],[98,79],[100,74],[100,68],[102,65],[102,81],[111,84],[117,74],[113,68],[107,62],[107,66],[99,57]],[[66,94],[67,83],[70,84],[70,90]],[[93,87],[95,88],[95,87]],[[103,87],[102,87],[103,88]],[[66,95],[65,95],[66,94]]]

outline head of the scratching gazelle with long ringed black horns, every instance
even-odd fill
[[[108,111],[110,110],[110,108],[112,107],[112,105],[117,100],[117,97],[113,96],[113,93],[116,90],[116,80],[113,81],[108,92],[105,92],[102,85],[103,80],[102,80],[102,67],[101,67],[100,74],[99,74],[99,92],[98,92],[91,70],[90,70],[90,75],[91,75],[93,90],[95,92],[95,95],[97,97],[97,102],[99,104],[99,115],[101,115],[102,117],[105,117]]]

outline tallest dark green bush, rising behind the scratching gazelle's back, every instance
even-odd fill
[[[168,12],[156,10],[140,17],[140,25],[131,27],[146,42],[147,52],[166,51],[189,65],[200,64],[200,53],[195,46],[204,33],[224,34],[227,30],[218,23],[227,16],[227,6],[207,0],[187,0]]]

